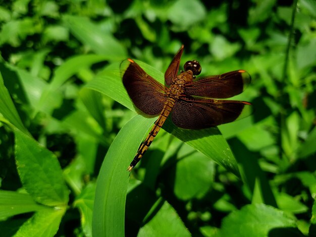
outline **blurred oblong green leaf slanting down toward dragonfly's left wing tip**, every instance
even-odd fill
[[[88,18],[79,16],[64,16],[65,25],[83,43],[97,53],[104,55],[107,60],[123,60],[126,58],[125,48],[111,32],[104,32],[102,28]]]

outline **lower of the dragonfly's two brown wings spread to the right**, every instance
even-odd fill
[[[250,115],[251,103],[184,97],[172,110],[173,123],[183,129],[206,129],[230,123]]]

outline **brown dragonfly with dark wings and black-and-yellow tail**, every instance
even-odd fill
[[[145,114],[159,114],[128,171],[143,157],[169,115],[179,128],[206,129],[251,114],[251,103],[225,100],[240,94],[250,84],[251,77],[246,71],[196,78],[202,68],[193,60],[186,62],[184,71],[178,74],[183,49],[184,45],[170,63],[165,73],[165,85],[149,76],[130,58],[121,64],[123,85],[134,105]]]

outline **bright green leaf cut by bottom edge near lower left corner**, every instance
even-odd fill
[[[36,212],[20,227],[15,237],[48,237],[55,236],[59,229],[66,208],[49,208]]]

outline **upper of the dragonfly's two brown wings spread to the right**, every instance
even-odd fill
[[[208,76],[186,84],[186,95],[226,99],[240,94],[250,84],[251,77],[244,70]]]

